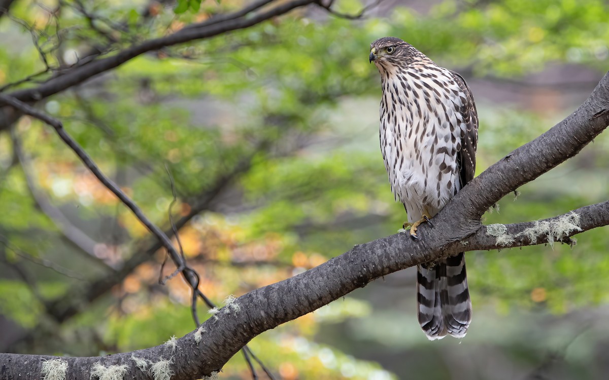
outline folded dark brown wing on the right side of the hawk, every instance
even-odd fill
[[[476,147],[478,144],[478,113],[476,103],[465,79],[454,71],[451,71],[457,85],[465,92],[465,105],[460,109],[465,120],[465,135],[461,139],[461,150],[457,152],[457,165],[459,167],[461,187],[465,186],[474,178],[476,173]]]

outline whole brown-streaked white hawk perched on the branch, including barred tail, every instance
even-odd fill
[[[394,37],[370,45],[381,74],[381,151],[410,236],[474,178],[478,116],[461,75]],[[429,339],[463,337],[471,300],[463,253],[417,266],[418,321]]]

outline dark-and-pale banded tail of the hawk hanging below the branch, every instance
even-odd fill
[[[430,340],[463,337],[471,322],[465,255],[417,266],[418,320]]]

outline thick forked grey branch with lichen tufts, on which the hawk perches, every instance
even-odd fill
[[[171,369],[175,372],[172,379],[199,378],[222,368],[253,337],[311,313],[383,275],[464,250],[544,243],[548,237],[544,229],[538,230],[537,235],[527,233],[521,235],[519,240],[515,238],[513,245],[496,240],[493,243],[488,236],[488,227],[482,226],[479,218],[484,210],[505,194],[577,154],[608,124],[609,74],[576,112],[492,165],[457,193],[434,217],[433,227],[423,225],[420,228],[421,240],[415,241],[407,234],[397,234],[357,245],[349,252],[300,275],[242,295],[233,304],[220,309],[217,318],[203,323],[202,328],[206,332],[203,336],[199,334],[202,337],[200,342],[195,338],[197,331],[192,331],[178,340],[175,350],[160,345],[103,358],[63,358],[68,364],[66,379],[86,378],[96,362],[105,366],[124,364],[128,366],[127,376],[133,379],[150,378],[133,365],[132,356],[152,362],[171,357]],[[573,214],[569,213],[541,223],[551,224],[552,221],[571,217],[569,223],[576,228],[569,227],[568,232],[563,231],[561,239],[570,237],[581,230],[607,225],[609,202],[582,207],[575,213],[578,218],[573,218]],[[513,224],[505,227],[504,233],[516,236],[535,226],[535,223]],[[56,358],[0,354],[0,362],[7,363],[0,371],[2,380],[39,379],[43,359]]]

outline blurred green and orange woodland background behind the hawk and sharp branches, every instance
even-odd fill
[[[69,65],[244,4],[176,13],[171,1],[12,1],[0,17],[0,91],[44,80],[41,54]],[[605,1],[337,0],[333,9],[366,6],[347,19],[309,5],[146,54],[38,105],[155,223],[169,227],[171,213],[200,289],[222,303],[406,220],[379,151],[371,41],[398,36],[465,77],[480,116],[477,173],[574,111],[609,67]],[[484,223],[605,201],[608,164],[605,133]],[[250,347],[287,380],[606,379],[609,229],[577,238],[467,254],[474,316],[464,339],[426,339],[410,268]],[[158,283],[165,253],[155,243],[50,127],[29,117],[0,126],[0,351],[97,356],[194,330],[182,278]],[[199,315],[209,317],[204,306]],[[252,378],[241,353],[220,378]]]

